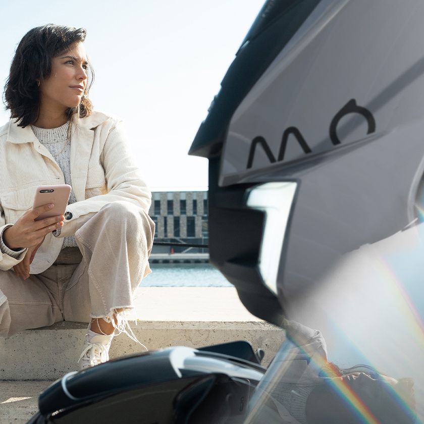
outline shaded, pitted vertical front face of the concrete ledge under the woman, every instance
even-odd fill
[[[55,380],[78,369],[86,324],[59,323],[28,330],[0,342],[0,380]],[[267,323],[248,322],[142,322],[132,326],[149,350],[169,346],[202,347],[232,340],[248,340],[266,352],[264,364],[276,353],[284,332]],[[143,352],[125,335],[116,337],[110,356]]]

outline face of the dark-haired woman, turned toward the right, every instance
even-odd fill
[[[51,73],[40,81],[41,107],[50,110],[75,108],[87,86],[88,61],[79,42],[51,60]]]

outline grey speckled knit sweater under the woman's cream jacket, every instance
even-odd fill
[[[69,122],[65,123],[61,127],[46,129],[38,128],[31,125],[31,129],[39,142],[43,144],[50,154],[54,157],[56,163],[59,165],[65,177],[65,184],[71,184],[71,164],[70,164],[70,153],[71,153],[71,140],[68,138]],[[71,190],[68,204],[75,203],[77,201],[74,191]],[[62,249],[65,247],[75,247],[77,243],[75,237],[65,237]],[[0,235],[0,250],[2,253],[6,253],[12,257],[17,258],[21,250],[9,249],[3,241],[3,233]]]

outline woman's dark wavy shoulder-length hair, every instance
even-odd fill
[[[86,30],[48,24],[28,31],[18,44],[13,58],[9,78],[6,80],[4,102],[11,118],[16,118],[20,127],[37,121],[40,113],[40,90],[37,79],[48,78],[51,73],[51,59],[69,50],[75,43],[84,42]],[[87,88],[80,104],[66,111],[68,119],[79,113],[81,118],[91,114],[93,105],[88,91],[94,80],[89,66]]]

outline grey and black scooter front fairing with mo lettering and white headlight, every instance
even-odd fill
[[[190,149],[209,161],[211,263],[246,308],[321,330],[341,367],[412,379],[421,420],[423,15],[267,2]]]

